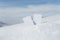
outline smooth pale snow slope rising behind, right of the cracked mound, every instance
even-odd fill
[[[44,18],[49,23],[58,23],[60,24],[60,15],[54,15]]]

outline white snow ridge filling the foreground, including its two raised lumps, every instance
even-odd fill
[[[34,14],[24,17],[22,24],[2,27],[0,40],[60,40],[60,23],[46,19],[40,14]]]

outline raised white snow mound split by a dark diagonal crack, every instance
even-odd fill
[[[41,24],[43,22],[42,20],[42,15],[40,14],[33,14],[32,16],[27,16],[27,17],[24,17],[23,18],[23,21],[25,24],[35,24],[35,25],[38,25],[38,24]]]

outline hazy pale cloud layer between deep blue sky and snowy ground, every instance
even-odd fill
[[[8,23],[18,23],[20,17],[39,13],[42,15],[60,14],[60,5],[28,5],[26,7],[0,7],[0,19]],[[11,22],[12,21],[12,22]]]

